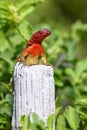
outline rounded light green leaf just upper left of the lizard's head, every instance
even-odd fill
[[[22,21],[17,28],[21,36],[28,41],[32,33],[32,26],[29,22]]]

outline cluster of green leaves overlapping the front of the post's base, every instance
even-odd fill
[[[60,110],[61,108],[57,108],[56,111],[48,117],[47,125],[36,113],[30,114],[30,116],[22,116],[21,127],[19,130],[53,130],[55,119],[57,118]]]

